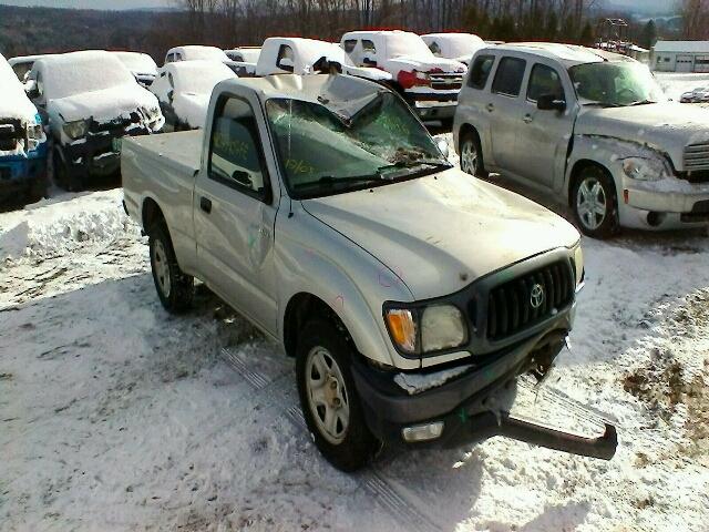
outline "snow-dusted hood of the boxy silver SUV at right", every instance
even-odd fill
[[[584,108],[575,133],[646,144],[684,171],[685,146],[709,143],[709,110],[674,102],[633,108]]]

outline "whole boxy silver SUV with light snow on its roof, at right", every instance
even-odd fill
[[[464,171],[549,194],[589,236],[709,223],[709,111],[668,101],[625,55],[548,43],[483,49],[453,134]]]

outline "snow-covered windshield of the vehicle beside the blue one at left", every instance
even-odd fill
[[[34,69],[41,69],[44,94],[52,100],[136,83],[119,58],[101,50],[42,58]]]

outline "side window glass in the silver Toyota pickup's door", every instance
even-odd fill
[[[209,177],[249,196],[268,201],[266,164],[251,106],[238,98],[216,109],[209,144]]]

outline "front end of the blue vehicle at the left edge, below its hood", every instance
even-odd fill
[[[0,117],[0,195],[30,192],[40,196],[47,187],[47,136],[41,117]]]

